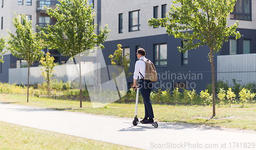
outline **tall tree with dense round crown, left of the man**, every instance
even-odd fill
[[[80,81],[80,107],[82,107],[81,58],[83,51],[89,51],[96,44],[103,48],[103,43],[109,35],[107,25],[100,27],[100,34],[94,33],[97,24],[93,24],[93,6],[86,0],[59,0],[56,8],[47,8],[47,14],[57,19],[56,24],[40,30],[48,33],[45,42],[50,48],[67,57],[78,56]],[[78,70],[78,69],[77,69]]]

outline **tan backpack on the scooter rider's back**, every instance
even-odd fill
[[[155,68],[155,65],[149,60],[147,59],[146,61],[145,60],[142,60],[146,63],[146,67],[145,67],[145,77],[141,76],[144,78],[145,81],[148,81],[148,82],[156,82],[157,81],[157,71],[156,71],[156,68]]]

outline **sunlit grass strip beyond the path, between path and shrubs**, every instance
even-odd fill
[[[90,102],[83,102],[82,108],[79,108],[78,101],[63,101],[43,97],[30,97],[29,103],[27,103],[26,96],[13,94],[0,94],[0,102],[119,117],[134,117],[135,111],[135,104],[112,103],[105,107],[93,109]],[[206,126],[212,127],[256,130],[256,105],[248,104],[243,108],[239,106],[240,105],[237,105],[237,107],[216,107],[216,116],[214,118],[211,118],[211,106],[153,105],[153,110],[155,119],[158,121],[205,124]],[[138,117],[144,117],[144,104],[138,105]]]

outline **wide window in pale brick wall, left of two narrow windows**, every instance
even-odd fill
[[[129,32],[140,30],[140,10],[129,12]]]

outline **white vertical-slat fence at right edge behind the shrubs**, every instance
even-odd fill
[[[233,86],[256,82],[256,54],[223,55],[217,57],[217,80]]]

